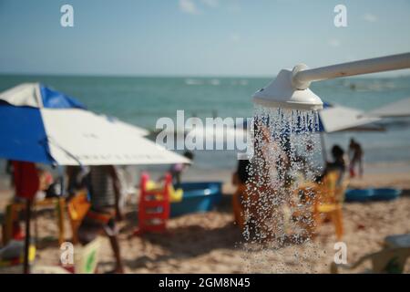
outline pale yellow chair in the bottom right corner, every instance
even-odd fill
[[[405,263],[410,257],[409,247],[385,248],[379,252],[370,255],[364,255],[353,265],[335,264],[331,265],[331,273],[337,274],[339,269],[352,270],[361,266],[365,261],[372,262],[372,269],[366,272],[375,274],[402,274],[405,269]]]

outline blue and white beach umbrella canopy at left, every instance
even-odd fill
[[[39,83],[0,93],[0,158],[59,165],[189,162],[144,138],[147,130],[86,110]]]

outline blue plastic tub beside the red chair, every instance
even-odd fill
[[[170,204],[170,216],[208,212],[215,208],[222,196],[222,183],[181,183],[182,201]]]

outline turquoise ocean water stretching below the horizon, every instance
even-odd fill
[[[159,118],[175,120],[177,110],[185,110],[186,118],[251,117],[251,95],[270,81],[271,78],[0,75],[0,91],[22,82],[42,82],[77,98],[88,110],[155,130]],[[373,110],[410,97],[410,77],[339,78],[313,83],[311,89],[323,101]],[[338,143],[346,150],[354,137],[364,148],[365,162],[410,162],[410,119],[380,123],[386,131],[326,134],[326,148]],[[236,163],[234,151],[195,151],[197,170],[233,170]]]

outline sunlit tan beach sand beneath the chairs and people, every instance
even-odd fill
[[[403,166],[403,165],[402,165]],[[403,166],[408,169],[408,165]],[[396,170],[396,172],[395,172]],[[221,173],[219,173],[221,175]],[[230,173],[224,173],[224,192],[231,193]],[[386,235],[410,233],[410,172],[400,167],[377,165],[363,180],[351,186],[398,187],[401,198],[391,202],[345,203],[343,206],[343,242],[347,260],[379,250]],[[3,208],[9,191],[0,193]],[[207,214],[188,214],[169,220],[169,232],[162,235],[130,236],[137,226],[137,206],[129,203],[126,220],[119,224],[122,257],[128,273],[329,273],[336,242],[333,225],[324,224],[313,242],[289,245],[280,250],[246,252],[239,228],[233,224],[231,196],[224,195],[221,206]],[[135,202],[135,198],[134,198]],[[56,243],[56,222],[51,211],[38,217],[38,254],[36,264],[56,265],[59,249]],[[67,229],[69,227],[66,224]],[[67,232],[67,239],[69,239]],[[103,239],[99,271],[113,268],[108,239]],[[369,267],[364,265],[360,270]],[[405,267],[410,273],[410,261]]]

